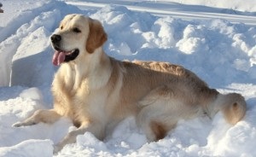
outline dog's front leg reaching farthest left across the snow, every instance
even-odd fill
[[[54,109],[45,110],[40,109],[32,114],[31,117],[25,119],[23,122],[15,123],[14,127],[26,126],[26,125],[37,125],[40,122],[52,124],[58,119],[61,118],[61,115],[56,113]]]

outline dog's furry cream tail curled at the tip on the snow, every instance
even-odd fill
[[[224,114],[224,118],[232,125],[240,121],[247,110],[247,104],[243,96],[237,93],[227,95],[219,94],[216,99],[207,105],[207,114],[212,118],[218,111]]]

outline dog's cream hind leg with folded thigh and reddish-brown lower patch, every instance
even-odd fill
[[[152,90],[138,103],[140,112],[137,125],[142,127],[148,141],[166,137],[179,119],[191,119],[203,114],[200,106],[193,105],[185,94],[183,90],[173,90],[172,86],[163,85]]]

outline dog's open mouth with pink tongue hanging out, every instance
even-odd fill
[[[73,61],[79,55],[79,49],[66,51],[62,49],[55,49],[55,54],[52,58],[52,63],[55,66],[61,65],[63,62]]]

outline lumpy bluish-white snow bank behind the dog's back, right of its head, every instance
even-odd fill
[[[107,6],[91,17],[102,21],[106,51],[116,58],[181,64],[215,87],[255,83],[255,27],[227,20],[188,22],[120,6]]]

